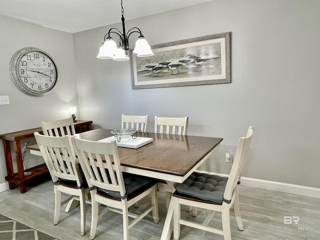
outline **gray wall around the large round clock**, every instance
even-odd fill
[[[69,117],[68,106],[77,105],[72,34],[0,17],[0,43],[0,95],[8,95],[10,100],[9,105],[0,105],[0,134],[39,127],[40,121]],[[9,62],[12,55],[22,47],[40,48],[55,61],[58,78],[50,94],[28,96],[12,82]],[[23,140],[22,144],[29,140],[29,144],[35,144],[33,138]],[[39,163],[43,163],[41,157],[26,154],[26,167]],[[6,175],[1,141],[0,190],[4,188],[1,183],[6,183]]]

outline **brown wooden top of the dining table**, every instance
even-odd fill
[[[76,134],[86,140],[112,136],[110,129],[93,129]],[[118,147],[123,166],[184,176],[202,160],[223,138],[138,132],[137,136],[152,137],[137,149]]]

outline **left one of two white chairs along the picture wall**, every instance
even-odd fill
[[[133,128],[147,131],[149,125],[149,115],[121,115],[121,128]]]

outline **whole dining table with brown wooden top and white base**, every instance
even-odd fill
[[[103,141],[120,140],[118,136],[111,133],[112,129],[97,128],[75,134],[76,137]],[[194,170],[196,170],[206,159],[210,157],[213,150],[220,144],[223,138],[175,135],[153,132],[136,132],[134,138],[151,139],[148,143],[137,148],[123,147],[118,145],[118,154],[123,172],[133,173],[141,176],[158,179],[167,192],[167,207],[170,195],[175,186],[182,183]],[[134,142],[134,139],[127,139]],[[119,143],[120,143],[119,142]],[[124,141],[123,141],[124,142]],[[41,155],[39,147],[32,145],[28,147],[31,154]],[[159,188],[159,187],[158,187]],[[71,207],[69,206],[71,209]]]

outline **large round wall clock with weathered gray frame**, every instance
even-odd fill
[[[11,58],[10,75],[16,87],[30,96],[49,93],[57,79],[52,58],[35,47],[19,49]]]

